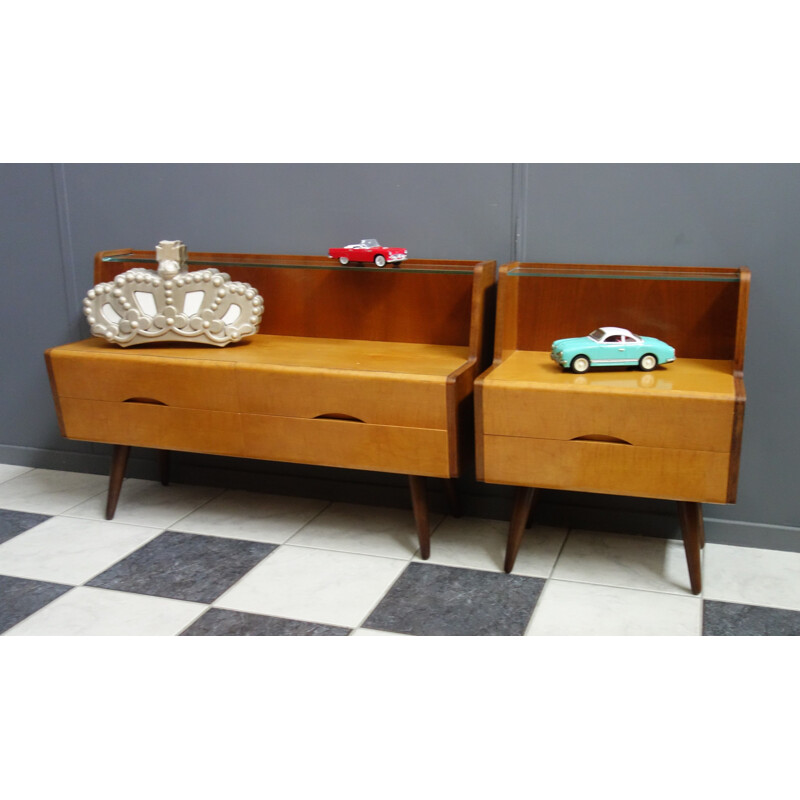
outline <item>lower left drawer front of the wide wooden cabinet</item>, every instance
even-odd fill
[[[241,456],[239,414],[61,397],[64,435],[109,444]]]

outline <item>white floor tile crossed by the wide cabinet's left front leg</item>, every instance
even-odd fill
[[[122,483],[114,522],[145,525],[163,530],[218,496],[222,491],[215,487],[184,484],[162,486],[158,481],[126,478]],[[83,519],[105,519],[106,500],[107,495],[103,492],[70,508],[66,515]]]

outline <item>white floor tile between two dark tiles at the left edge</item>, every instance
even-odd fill
[[[53,517],[0,544],[0,574],[83,583],[158,534],[156,528]]]

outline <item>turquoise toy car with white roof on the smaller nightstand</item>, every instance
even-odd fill
[[[605,327],[588,336],[556,339],[550,358],[578,373],[590,367],[639,367],[649,372],[674,361],[675,348],[652,336],[637,336],[626,328]]]

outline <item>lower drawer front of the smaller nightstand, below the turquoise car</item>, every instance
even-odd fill
[[[728,502],[728,453],[516,436],[484,436],[482,444],[489,483]]]

